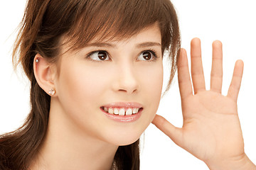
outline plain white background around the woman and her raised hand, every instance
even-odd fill
[[[201,38],[206,86],[210,86],[211,43],[223,42],[223,94],[226,95],[235,61],[245,62],[238,97],[238,113],[245,140],[245,152],[256,163],[256,4],[253,0],[173,0],[181,26],[182,47],[190,50],[192,38]],[[13,71],[11,45],[15,29],[23,16],[25,0],[2,1],[0,4],[0,134],[15,130],[29,108],[29,83]],[[189,62],[190,63],[190,62]],[[168,69],[165,70],[168,77]],[[177,77],[176,77],[177,78]],[[169,93],[162,98],[159,111],[174,125],[182,126],[181,101],[175,78]],[[149,125],[142,145],[142,170],[208,169],[200,160],[176,146],[169,137]]]

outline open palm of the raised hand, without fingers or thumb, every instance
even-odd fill
[[[204,162],[244,153],[236,103],[230,98],[202,91],[184,99],[182,109],[181,141],[174,140],[178,145]]]

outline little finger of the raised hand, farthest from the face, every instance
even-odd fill
[[[228,89],[227,96],[230,98],[233,98],[235,102],[238,101],[238,93],[239,93],[241,81],[242,81],[243,66],[244,64],[242,60],[238,60],[237,62],[235,62],[233,77],[230,83],[230,87]]]

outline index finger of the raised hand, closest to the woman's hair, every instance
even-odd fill
[[[181,49],[180,56],[178,58],[178,87],[181,94],[181,99],[193,94],[188,69],[188,57],[185,49]]]

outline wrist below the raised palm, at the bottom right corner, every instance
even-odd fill
[[[255,164],[247,157],[246,154],[236,159],[225,159],[219,162],[206,163],[210,170],[256,170]]]

